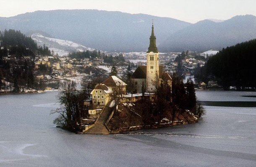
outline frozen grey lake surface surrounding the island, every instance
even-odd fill
[[[256,92],[197,91],[200,101],[256,101]],[[78,135],[52,123],[58,92],[0,96],[0,167],[255,167],[256,107],[204,106],[196,124]]]

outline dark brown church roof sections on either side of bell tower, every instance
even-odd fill
[[[163,74],[167,77],[167,79],[172,79],[168,73],[163,73],[163,66],[159,66],[159,78],[162,78]],[[146,66],[138,66],[138,68],[134,71],[131,78],[134,79],[146,79]]]

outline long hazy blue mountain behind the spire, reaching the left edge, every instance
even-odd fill
[[[0,30],[43,31],[102,51],[146,51],[154,19],[157,44],[191,25],[172,18],[103,10],[51,10],[0,18]]]

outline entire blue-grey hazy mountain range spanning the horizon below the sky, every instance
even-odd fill
[[[70,40],[108,52],[146,51],[152,19],[161,52],[221,50],[256,38],[256,17],[238,15],[222,22],[195,24],[148,14],[106,10],[38,10],[0,18],[0,30],[43,31],[52,38]]]

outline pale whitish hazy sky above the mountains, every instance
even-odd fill
[[[0,17],[36,10],[98,9],[145,13],[190,23],[235,15],[256,15],[256,0],[0,0]]]

